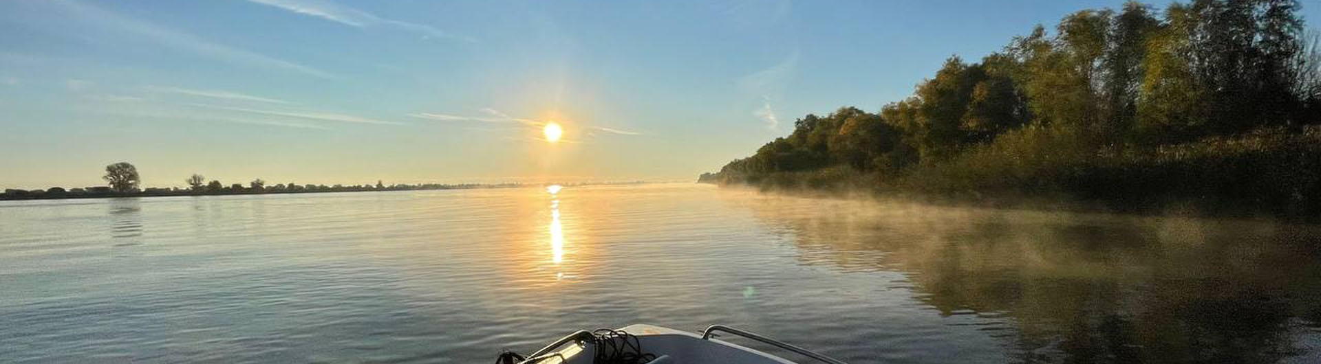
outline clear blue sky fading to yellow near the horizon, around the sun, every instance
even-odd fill
[[[0,0],[0,189],[694,181],[1122,3]]]

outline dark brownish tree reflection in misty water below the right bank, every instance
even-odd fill
[[[1026,363],[1275,363],[1321,322],[1316,226],[770,199],[749,206],[804,264],[1003,315]]]

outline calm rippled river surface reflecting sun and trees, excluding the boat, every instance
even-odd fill
[[[690,185],[0,202],[0,363],[490,363],[630,323],[851,363],[1321,363],[1318,247]]]

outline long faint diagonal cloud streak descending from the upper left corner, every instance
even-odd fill
[[[103,11],[92,5],[81,4],[75,1],[53,1],[53,3],[63,5],[73,13],[79,15],[83,20],[98,22],[100,25],[119,29],[123,32],[133,33],[169,47],[182,49],[238,65],[266,67],[266,69],[280,69],[318,78],[332,78],[330,74],[313,67],[267,57],[243,49],[214,44],[193,34],[168,29],[164,26],[157,26],[147,21],[119,16],[116,13]]]

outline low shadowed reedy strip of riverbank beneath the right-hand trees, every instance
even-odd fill
[[[937,204],[1215,216],[1321,216],[1321,127],[1258,129],[1157,146],[1011,132],[906,170],[848,166],[703,177],[717,185]]]

